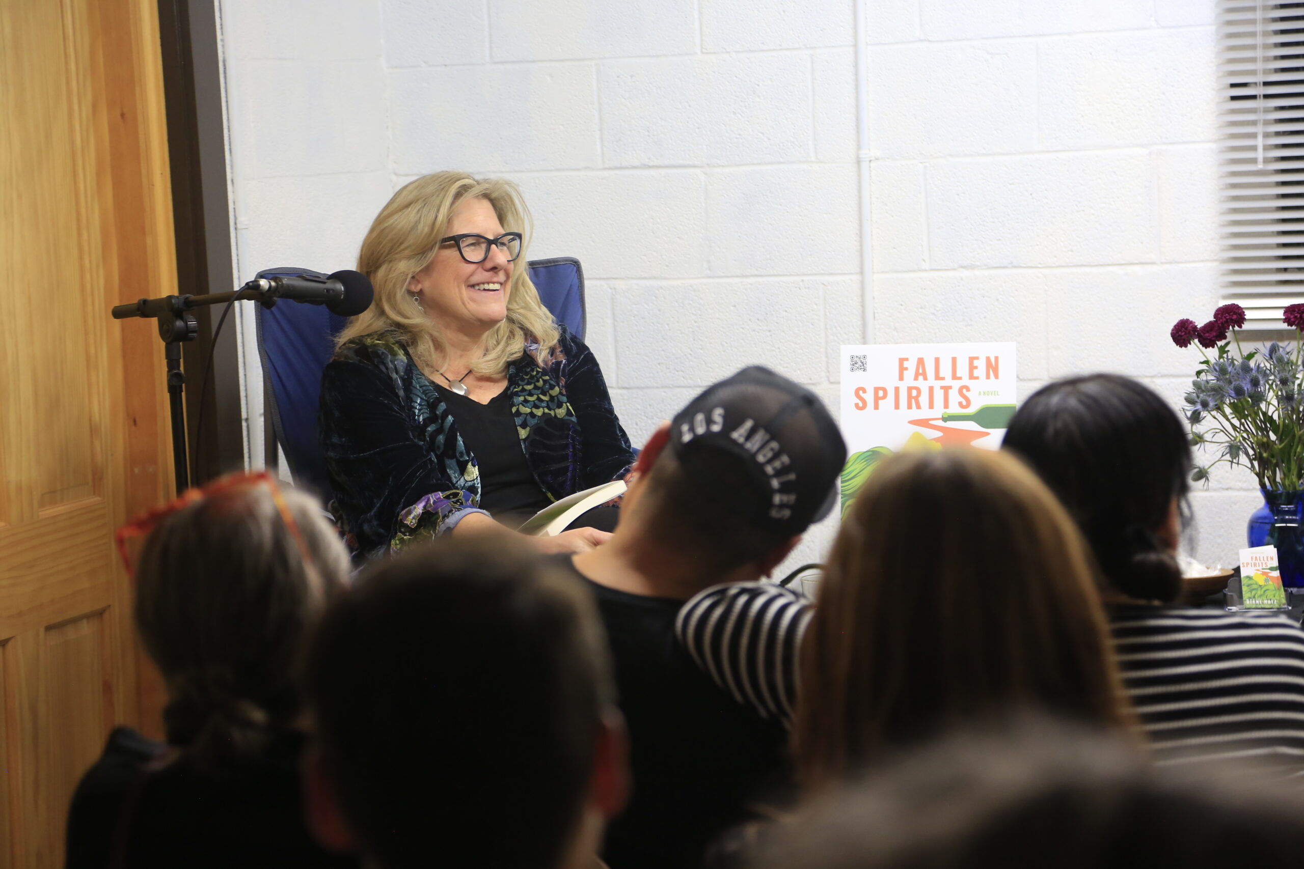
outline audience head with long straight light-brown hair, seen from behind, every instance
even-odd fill
[[[1129,717],[1081,535],[1037,476],[998,452],[879,463],[842,521],[803,642],[793,748],[811,791],[974,720]]]

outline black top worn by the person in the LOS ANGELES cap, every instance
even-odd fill
[[[570,556],[559,560],[575,571]],[[786,793],[788,731],[692,662],[674,634],[682,601],[584,582],[612,646],[634,776],[602,859],[612,869],[695,868],[712,839],[754,817],[752,804]]]

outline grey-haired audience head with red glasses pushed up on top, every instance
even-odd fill
[[[167,684],[168,741],[218,766],[288,727],[305,636],[348,569],[317,502],[270,479],[219,481],[166,516],[136,569],[136,627]]]

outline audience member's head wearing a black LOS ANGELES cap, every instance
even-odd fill
[[[752,366],[707,387],[652,436],[625,512],[704,575],[748,563],[764,573],[833,508],[845,461],[819,396]]]

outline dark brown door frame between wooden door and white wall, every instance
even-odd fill
[[[158,0],[158,10],[177,292],[235,289],[216,0]],[[245,443],[236,311],[227,317],[216,348],[213,330],[222,309],[194,313],[200,335],[183,345],[183,366],[190,482],[198,485],[244,468]],[[213,373],[205,390],[210,352]]]

